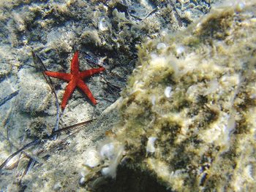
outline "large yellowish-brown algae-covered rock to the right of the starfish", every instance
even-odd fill
[[[256,190],[255,7],[218,7],[140,47],[113,129],[127,166],[173,191]]]

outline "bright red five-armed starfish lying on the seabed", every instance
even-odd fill
[[[83,79],[86,77],[90,77],[93,74],[97,74],[99,72],[102,72],[105,70],[104,67],[99,67],[97,69],[89,69],[85,70],[83,72],[79,71],[79,60],[78,60],[78,51],[75,52],[72,61],[71,61],[71,67],[70,67],[70,73],[60,73],[60,72],[49,72],[46,71],[45,74],[47,74],[50,77],[59,78],[61,80],[65,80],[69,82],[67,84],[63,100],[61,103],[61,109],[64,110],[64,108],[67,105],[67,101],[69,100],[72,93],[75,91],[75,88],[80,88],[83,93],[88,96],[88,98],[91,100],[93,104],[97,104],[96,99],[92,95],[91,91],[87,87],[86,83],[83,82]]]

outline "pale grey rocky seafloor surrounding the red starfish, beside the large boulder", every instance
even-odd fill
[[[0,164],[37,141],[1,168],[0,191],[175,191],[156,172],[130,172],[125,161],[117,174],[105,174],[99,151],[108,143],[105,137],[115,134],[113,126],[125,121],[120,93],[138,65],[138,46],[186,30],[219,4],[243,7],[246,1],[0,1]],[[56,102],[42,64],[67,73],[75,50],[80,70],[99,65],[106,70],[85,80],[96,106],[76,89],[61,111],[67,82],[51,78]],[[53,128],[69,126],[50,136]]]

